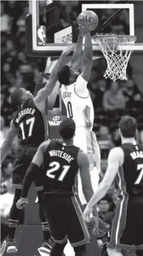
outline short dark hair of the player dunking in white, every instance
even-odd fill
[[[65,65],[58,73],[58,80],[60,84],[64,84],[64,86],[68,86],[70,84],[70,66]]]

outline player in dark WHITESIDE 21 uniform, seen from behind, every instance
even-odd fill
[[[86,243],[90,237],[77,199],[75,180],[80,170],[82,186],[87,202],[93,195],[89,174],[89,159],[79,147],[73,146],[75,122],[65,119],[59,126],[62,140],[43,142],[35,154],[24,178],[22,194],[17,207],[27,203],[27,192],[34,179],[44,175],[43,205],[54,244],[50,256],[62,256],[67,239],[75,256],[86,256]],[[40,166],[43,164],[43,170]],[[96,215],[94,207],[93,215]],[[91,253],[92,254],[92,253]],[[88,256],[90,256],[89,254]],[[69,253],[68,253],[69,255]]]

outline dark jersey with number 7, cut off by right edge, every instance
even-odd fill
[[[125,143],[124,163],[117,174],[119,195],[133,195],[143,192],[143,146]]]

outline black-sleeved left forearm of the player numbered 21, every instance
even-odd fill
[[[31,163],[31,165],[29,165],[26,175],[24,177],[21,197],[27,197],[29,188],[33,181],[36,179],[36,168],[37,165],[35,165],[34,163]]]

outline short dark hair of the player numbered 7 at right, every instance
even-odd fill
[[[124,138],[135,137],[137,131],[137,120],[135,118],[123,116],[118,125]]]

